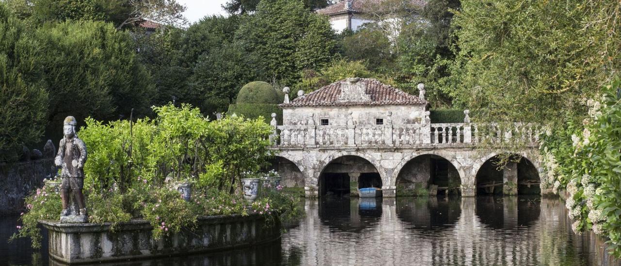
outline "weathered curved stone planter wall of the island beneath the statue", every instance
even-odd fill
[[[50,257],[63,264],[87,264],[147,259],[170,255],[215,252],[249,247],[280,238],[278,218],[266,223],[259,215],[208,216],[199,218],[193,231],[182,230],[153,239],[147,221],[117,224],[61,224],[39,221],[48,229]]]

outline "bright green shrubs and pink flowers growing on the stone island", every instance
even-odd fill
[[[300,214],[296,197],[281,186],[266,184],[254,203],[242,198],[240,178],[255,177],[271,158],[265,122],[229,116],[209,121],[199,109],[183,106],[154,108],[155,119],[104,124],[87,119],[79,137],[89,149],[84,165],[84,194],[90,222],[140,218],[161,237],[192,229],[205,215],[257,213],[293,218]],[[270,174],[270,176],[273,174]],[[194,184],[185,201],[165,177]],[[32,237],[40,245],[39,219],[57,219],[60,196],[49,183],[26,199],[29,211],[15,237]],[[114,228],[114,226],[113,226]]]

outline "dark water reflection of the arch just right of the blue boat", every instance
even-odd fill
[[[438,232],[455,227],[461,215],[461,198],[397,198],[397,217],[424,232]]]

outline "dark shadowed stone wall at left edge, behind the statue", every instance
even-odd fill
[[[53,158],[0,164],[0,215],[24,211],[24,197],[56,171]]]

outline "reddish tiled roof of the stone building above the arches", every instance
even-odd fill
[[[347,86],[347,80],[340,80],[323,88],[317,89],[306,96],[298,97],[288,104],[280,104],[283,108],[299,106],[381,106],[381,105],[414,105],[427,104],[418,96],[408,94],[401,89],[386,85],[373,78],[360,78],[357,83],[363,83],[365,94],[369,101],[342,100],[342,85]]]

